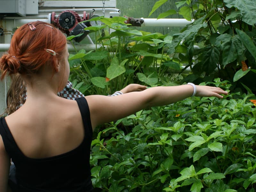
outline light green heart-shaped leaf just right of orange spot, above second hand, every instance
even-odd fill
[[[107,77],[111,80],[123,74],[125,72],[124,64],[126,63],[126,61],[128,61],[128,59],[123,60],[119,65],[117,58],[113,58],[110,66],[107,69]]]

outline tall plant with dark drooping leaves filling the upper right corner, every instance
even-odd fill
[[[157,1],[152,12],[165,2]],[[200,83],[220,77],[255,92],[256,86],[251,81],[256,72],[256,2],[182,0],[176,5],[178,13],[185,19],[194,19],[180,33],[174,34],[169,44],[168,52],[173,54],[175,61],[193,72],[183,81]],[[175,13],[175,10],[169,10],[158,19]]]

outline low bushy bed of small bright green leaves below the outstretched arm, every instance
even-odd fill
[[[209,84],[231,86],[220,79]],[[252,96],[187,98],[111,122],[92,141],[94,187],[254,191],[256,109],[248,100]]]

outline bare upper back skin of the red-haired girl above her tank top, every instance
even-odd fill
[[[32,105],[28,100],[5,120],[20,150],[30,158],[68,152],[84,138],[83,121],[76,101],[57,96],[55,100],[46,103],[38,100]]]

